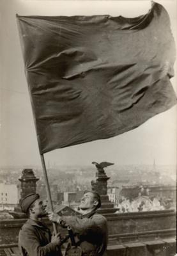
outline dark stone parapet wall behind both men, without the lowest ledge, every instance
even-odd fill
[[[175,237],[176,213],[172,210],[104,214],[108,221],[109,244],[123,244]],[[26,219],[0,221],[0,244],[17,244],[20,227]],[[50,221],[46,224],[52,228]],[[61,234],[66,230],[59,228]]]

